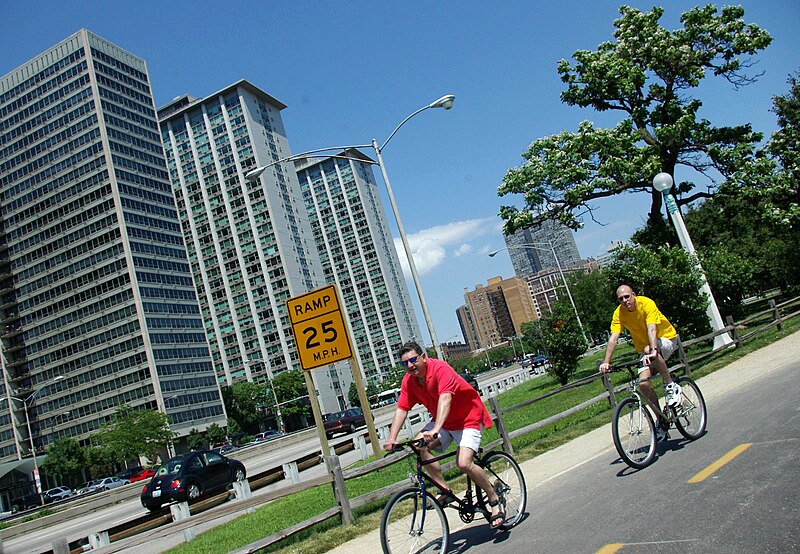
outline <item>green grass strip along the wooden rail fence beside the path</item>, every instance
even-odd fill
[[[740,349],[724,350],[692,365],[692,377],[697,379],[712,373],[750,352],[790,335],[798,329],[800,329],[800,318],[792,318],[784,323],[782,332],[774,328],[769,329],[751,338]],[[626,353],[632,353],[632,348],[627,345],[621,345],[617,349],[615,359],[623,357]],[[690,357],[692,354],[693,352],[689,352]],[[596,352],[582,358],[573,380],[597,372],[597,360],[601,359],[602,356],[603,352]],[[615,384],[622,383],[627,378],[627,373],[613,375]],[[514,387],[500,395],[498,399],[502,408],[508,408],[557,387],[557,381],[553,377],[546,375]],[[590,385],[556,394],[521,410],[506,414],[504,416],[506,425],[510,430],[524,427],[531,422],[540,421],[558,414],[584,400],[597,396],[604,390],[602,383],[597,380]],[[533,458],[608,423],[611,420],[611,415],[611,408],[608,402],[599,402],[572,416],[514,439],[514,457],[520,462]],[[495,440],[497,436],[497,431],[494,428],[487,430],[484,433],[484,443]],[[609,437],[609,443],[610,441],[611,437]],[[400,481],[406,478],[409,471],[414,471],[414,468],[406,460],[381,471],[373,472],[358,479],[352,479],[347,482],[348,496],[354,498],[379,487]],[[454,489],[458,490],[459,487],[464,486],[464,479],[457,470],[451,471],[448,478]],[[356,517],[354,525],[343,526],[338,520],[334,519],[319,524],[315,529],[299,534],[292,539],[287,539],[283,541],[280,547],[276,546],[267,551],[280,552],[282,554],[317,554],[326,552],[343,542],[377,528],[380,524],[381,510],[384,504],[385,500],[377,501],[356,510],[354,513]],[[334,499],[331,486],[320,486],[271,502],[259,508],[253,514],[239,517],[225,525],[202,533],[191,542],[175,547],[168,552],[171,554],[229,552],[300,523],[333,506]]]

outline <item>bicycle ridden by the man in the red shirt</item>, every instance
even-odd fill
[[[491,516],[486,493],[477,485],[473,491],[473,483],[469,476],[463,498],[453,494],[443,504],[436,500],[430,490],[431,485],[442,495],[445,495],[448,489],[431,479],[422,468],[453,457],[457,451],[423,460],[420,451],[424,446],[424,440],[410,439],[397,443],[393,450],[393,452],[400,452],[405,448],[411,450],[417,458],[417,471],[416,475],[411,472],[408,474],[413,484],[392,496],[383,510],[380,534],[381,547],[385,554],[447,552],[450,524],[444,513],[446,507],[458,511],[464,523],[471,523],[477,513],[483,514],[487,520]],[[505,520],[497,529],[511,529],[522,519],[527,501],[525,478],[519,464],[506,452],[493,450],[484,455],[483,449],[479,449],[475,455],[475,463],[486,472],[506,511]]]

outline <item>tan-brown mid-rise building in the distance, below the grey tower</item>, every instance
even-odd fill
[[[492,277],[487,286],[464,289],[464,300],[466,310],[459,315],[469,315],[476,350],[505,342],[522,331],[523,323],[538,319],[528,285],[517,277]]]

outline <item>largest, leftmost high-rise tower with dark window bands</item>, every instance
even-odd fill
[[[145,62],[81,30],[0,79],[0,461],[120,404],[225,425]],[[32,398],[32,396],[35,397]]]

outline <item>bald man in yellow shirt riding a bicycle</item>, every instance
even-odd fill
[[[617,301],[619,306],[614,310],[611,318],[611,338],[606,347],[606,356],[603,363],[600,364],[600,373],[608,373],[611,369],[611,357],[617,347],[617,340],[622,329],[627,329],[633,339],[633,347],[642,354],[639,377],[647,379],[652,377],[655,371],[660,373],[664,379],[667,404],[679,406],[681,388],[677,383],[672,382],[666,362],[678,345],[678,333],[664,317],[664,314],[659,311],[655,302],[646,296],[637,297],[630,286],[622,285],[617,289]],[[642,393],[658,405],[658,397],[653,391],[650,381],[642,381],[639,386]],[[668,438],[666,428],[661,421],[658,422],[656,428],[656,437],[660,441]]]

